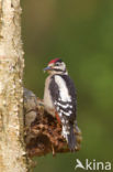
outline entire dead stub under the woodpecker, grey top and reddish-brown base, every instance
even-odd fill
[[[24,100],[25,119],[34,115],[34,120],[33,117],[31,118],[31,125],[30,121],[29,125],[25,123],[25,142],[29,155],[39,157],[50,152],[55,155],[57,152],[69,152],[67,142],[61,136],[61,125],[44,110],[44,106],[41,106],[43,101],[37,99],[32,92],[29,92],[29,96],[25,94]],[[75,128],[75,135],[77,138],[75,151],[78,151],[81,143],[81,132],[78,128]]]

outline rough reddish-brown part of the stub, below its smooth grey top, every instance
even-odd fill
[[[31,125],[31,133],[34,138],[26,146],[30,157],[44,155],[49,152],[53,152],[53,154],[68,152],[67,142],[61,136],[61,126],[57,123],[57,120],[47,112],[44,112],[43,117],[38,112],[37,115],[37,118]],[[78,135],[78,148],[76,150],[79,150],[80,133],[75,135]]]

